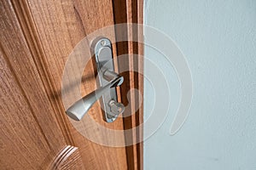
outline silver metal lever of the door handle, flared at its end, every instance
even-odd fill
[[[73,120],[80,121],[83,118],[83,116],[87,113],[87,111],[90,110],[90,107],[95,104],[96,100],[100,99],[103,94],[108,92],[109,88],[118,87],[124,82],[124,77],[120,77],[113,71],[104,71],[103,75],[106,77],[106,79],[109,80],[110,78],[112,78],[112,80],[108,82],[108,84],[104,87],[98,88],[90,94],[84,96],[82,99],[79,99],[77,102],[75,102],[72,106],[70,106],[67,109],[67,115],[73,118]],[[117,105],[117,107],[118,106],[119,105]],[[123,112],[124,106],[119,107],[121,107],[122,110],[120,112]]]

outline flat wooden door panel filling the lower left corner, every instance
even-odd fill
[[[33,116],[9,63],[0,60],[0,164],[1,169],[38,169],[51,155],[49,143]],[[11,95],[13,94],[13,95]],[[8,159],[6,159],[8,158]]]

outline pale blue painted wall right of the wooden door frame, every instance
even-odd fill
[[[144,142],[144,168],[255,170],[256,1],[145,0],[144,23],[177,43],[188,60],[194,86],[189,117],[171,136],[179,82],[161,54],[145,48],[145,56],[171,84],[172,106],[163,125]],[[154,93],[158,93],[148,79],[145,120],[151,114]]]

